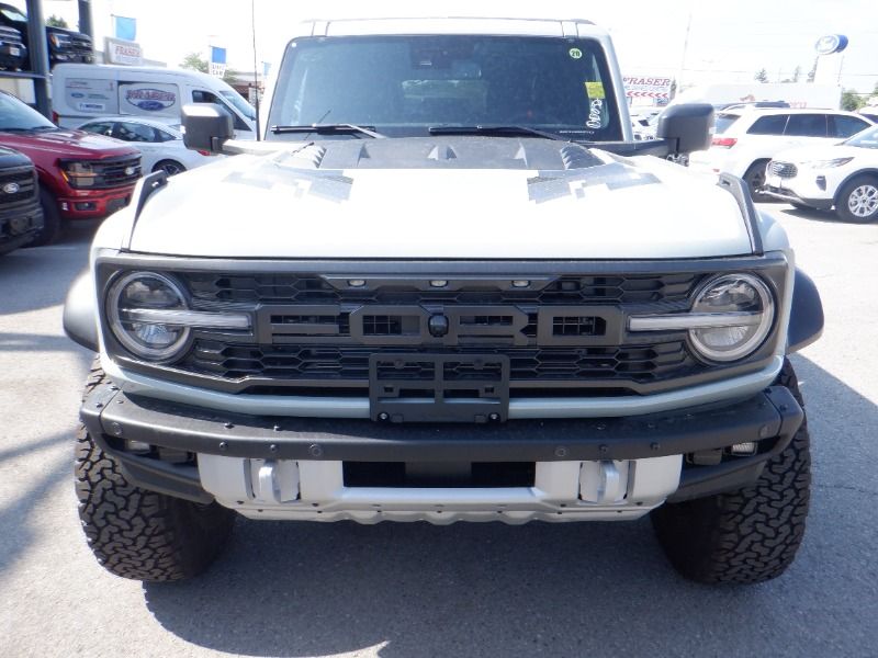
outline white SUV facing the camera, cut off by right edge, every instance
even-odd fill
[[[878,126],[834,146],[779,152],[765,172],[765,192],[799,207],[835,213],[846,222],[878,219]]]

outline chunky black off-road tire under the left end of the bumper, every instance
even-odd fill
[[[95,361],[86,395],[104,379]],[[131,485],[85,427],[76,438],[76,492],[89,547],[111,574],[165,582],[204,571],[222,552],[235,512]]]

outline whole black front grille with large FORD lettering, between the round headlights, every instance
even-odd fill
[[[426,276],[179,273],[193,307],[251,309],[256,325],[252,337],[198,332],[175,367],[238,393],[363,396],[371,355],[414,356],[376,365],[379,378],[410,379],[412,390],[436,375],[427,358],[469,355],[443,360],[442,378],[477,382],[499,377],[488,372],[499,362],[473,359],[502,356],[511,396],[644,393],[709,366],[685,334],[627,333],[624,313],[685,309],[709,275],[451,276],[431,285]]]

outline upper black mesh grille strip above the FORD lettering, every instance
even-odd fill
[[[698,273],[554,279],[541,290],[500,290],[474,283],[457,291],[424,291],[402,282],[378,290],[334,287],[317,275],[230,273],[185,275],[195,299],[259,304],[649,304],[682,302],[701,281]]]

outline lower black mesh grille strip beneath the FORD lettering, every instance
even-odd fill
[[[369,382],[371,348],[325,345],[254,345],[216,340],[196,340],[189,356],[180,364],[193,373],[227,379],[243,377],[270,378],[295,383],[319,382],[331,385],[365,386]],[[395,349],[405,354],[504,354],[509,358],[510,386],[543,382],[576,384],[583,382],[634,382],[649,384],[669,376],[695,374],[699,364],[688,354],[682,341],[610,348],[457,348]],[[472,363],[446,364],[447,381],[465,381],[485,376],[485,368]],[[398,370],[389,366],[385,373],[395,379],[418,381],[431,377],[426,364],[405,362]]]

